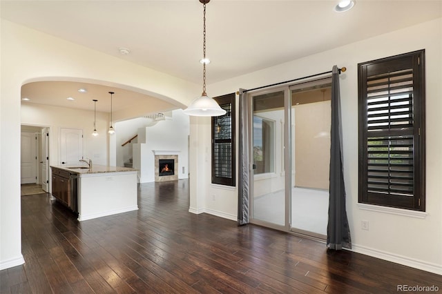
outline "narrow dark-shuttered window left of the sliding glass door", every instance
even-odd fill
[[[213,99],[227,112],[212,117],[212,184],[235,186],[235,93]]]

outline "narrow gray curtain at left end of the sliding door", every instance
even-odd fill
[[[247,93],[240,89],[238,158],[238,226],[249,224],[249,119]]]

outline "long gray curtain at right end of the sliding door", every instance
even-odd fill
[[[352,248],[350,230],[345,210],[345,185],[343,175],[342,119],[340,116],[339,69],[332,70],[332,128],[330,144],[330,197],[327,247],[334,250]]]

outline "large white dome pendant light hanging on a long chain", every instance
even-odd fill
[[[209,1],[210,0],[200,0],[200,2],[203,4],[203,59],[200,61],[203,66],[202,94],[201,97],[193,100],[188,108],[183,110],[186,115],[193,115],[196,117],[218,117],[226,114],[226,110],[220,108],[218,103],[206,94],[206,64],[210,62],[209,59],[206,59],[206,3],[209,3]]]

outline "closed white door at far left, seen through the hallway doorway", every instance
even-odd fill
[[[37,183],[37,138],[21,133],[21,184]]]

